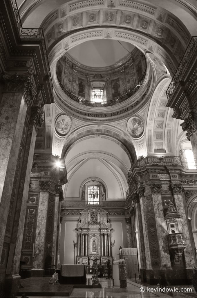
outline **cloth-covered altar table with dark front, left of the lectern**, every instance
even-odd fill
[[[85,266],[62,264],[59,282],[64,284],[86,283]]]

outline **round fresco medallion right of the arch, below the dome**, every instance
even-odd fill
[[[137,116],[131,117],[127,121],[127,131],[134,139],[141,137],[144,132],[144,124],[142,120]]]

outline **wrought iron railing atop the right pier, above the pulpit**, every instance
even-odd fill
[[[154,166],[157,164],[182,165],[180,156],[146,156],[142,159],[135,160],[128,172],[128,180],[135,168],[140,168],[147,164]]]

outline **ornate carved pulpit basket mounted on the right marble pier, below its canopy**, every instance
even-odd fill
[[[174,233],[168,235],[169,250],[177,257],[181,257],[186,248],[185,237],[183,233]]]

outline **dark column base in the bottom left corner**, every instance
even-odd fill
[[[4,283],[4,296],[10,297],[12,294],[15,296],[19,291],[20,282],[21,276],[18,274],[6,277]]]

